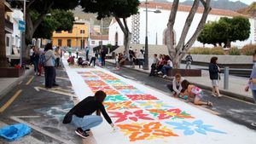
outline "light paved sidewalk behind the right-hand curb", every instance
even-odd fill
[[[107,60],[110,63],[114,63],[114,60]],[[149,60],[149,68],[151,66],[151,61]],[[142,68],[139,69],[138,66],[135,66],[135,68],[131,68],[131,66],[124,66],[125,68],[130,68],[135,71],[144,72],[149,74],[150,70],[143,70]],[[185,66],[182,65],[182,68]],[[203,68],[202,66],[191,66],[192,68]],[[208,71],[202,70],[202,76],[201,77],[185,77],[189,82],[198,85],[202,89],[209,89],[212,90],[212,82],[209,78]],[[251,92],[245,92],[244,88],[247,84],[247,78],[241,78],[236,76],[230,76],[229,79],[229,89],[224,89],[224,74],[221,74],[221,80],[219,82],[219,89],[221,94],[223,95],[229,95],[230,97],[234,97],[243,101],[250,101],[253,102],[253,96],[251,95]]]

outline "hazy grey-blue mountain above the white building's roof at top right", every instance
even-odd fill
[[[167,0],[153,0],[154,2],[167,2]],[[192,6],[194,1],[187,0],[183,3],[183,5],[189,5]],[[202,5],[201,5],[202,6]],[[246,3],[241,3],[240,1],[231,2],[230,0],[212,0],[211,6],[214,9],[230,9],[230,10],[237,10],[237,9],[243,9],[246,8],[248,5]]]

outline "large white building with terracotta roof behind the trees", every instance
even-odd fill
[[[148,3],[148,44],[155,45],[166,45],[165,35],[166,35],[166,27],[169,19],[169,15],[171,13],[172,3],[156,3],[149,2]],[[154,13],[156,9],[160,10],[160,14]],[[174,44],[177,44],[179,37],[183,31],[183,26],[185,24],[185,20],[189,14],[190,6],[179,5],[177,10],[177,17],[174,25]],[[151,11],[151,12],[150,12]],[[201,20],[201,15],[203,12],[203,8],[199,8],[197,13],[195,14],[195,18],[193,23],[190,26],[190,30],[187,36],[188,40],[193,33],[195,32],[196,27]],[[221,17],[233,17],[236,15],[241,15],[231,10],[224,9],[212,9],[210,14],[207,17],[207,22],[219,20]],[[249,19],[251,23],[251,34],[250,37],[243,42],[237,41],[236,43],[232,43],[233,46],[242,47],[248,43],[256,43],[255,37],[255,20]],[[146,33],[146,12],[145,12],[145,3],[141,3],[139,8],[139,13],[136,15],[132,15],[127,19],[127,25],[132,33],[131,43],[145,43],[145,33]],[[111,44],[124,45],[124,34],[121,31],[116,20],[112,20],[109,26],[109,42]],[[203,44],[196,41],[193,47],[202,47]],[[212,45],[206,45],[207,47],[212,47]]]

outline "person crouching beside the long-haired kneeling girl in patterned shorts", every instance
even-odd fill
[[[167,88],[171,90],[172,95],[174,97],[177,97],[178,95],[180,95],[181,90],[183,89],[181,84],[184,79],[185,78],[183,78],[180,73],[177,73],[175,75],[175,78],[172,80],[172,84],[167,84]]]

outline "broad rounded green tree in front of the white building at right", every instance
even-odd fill
[[[224,43],[224,48],[230,48],[231,42],[243,41],[250,37],[250,29],[250,22],[245,17],[223,17],[216,22],[207,24],[198,37],[198,41],[214,46],[217,46],[216,43],[219,46]]]

